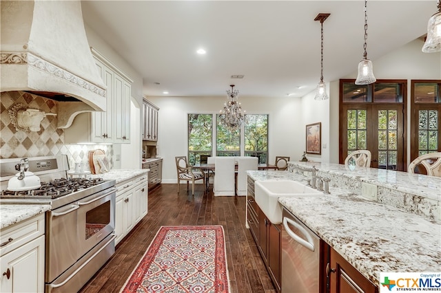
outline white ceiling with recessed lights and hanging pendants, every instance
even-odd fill
[[[364,1],[82,1],[85,23],[143,77],[145,96],[303,96],[356,72]],[[373,61],[427,32],[436,1],[368,1]],[[421,41],[421,45],[422,45]],[[203,47],[205,55],[196,54]],[[243,74],[243,79],[232,79]],[[381,78],[381,76],[377,76]],[[156,84],[159,83],[159,84]],[[163,94],[168,91],[169,94]]]

